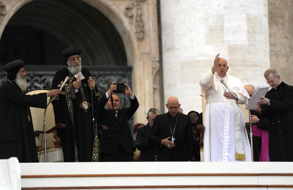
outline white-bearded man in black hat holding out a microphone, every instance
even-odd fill
[[[38,162],[30,107],[46,108],[47,96],[60,90],[25,95],[24,62],[15,60],[4,66],[7,81],[0,86],[0,159],[17,157],[19,162]]]

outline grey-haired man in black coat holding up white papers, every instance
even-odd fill
[[[261,97],[255,111],[269,118],[269,161],[293,161],[293,86],[281,82],[276,69],[267,69],[264,77],[272,87]]]

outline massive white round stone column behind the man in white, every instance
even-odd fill
[[[199,81],[218,53],[244,85],[266,85],[267,0],[161,0],[161,25],[164,99],[178,97],[185,114],[201,112]]]

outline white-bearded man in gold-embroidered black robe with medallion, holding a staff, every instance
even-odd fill
[[[97,122],[96,107],[101,95],[95,81],[89,79],[92,76],[89,70],[82,67],[80,55],[78,47],[65,49],[62,52],[65,67],[56,72],[52,82],[52,89],[59,89],[65,77],[69,76],[60,96],[52,102],[55,123],[65,123],[66,126],[66,129],[58,130],[64,162],[99,160],[98,134],[93,129],[92,107]]]

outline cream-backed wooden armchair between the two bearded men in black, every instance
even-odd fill
[[[35,90],[27,93],[28,95],[48,92],[48,90]],[[47,103],[50,97],[47,98]],[[34,125],[34,135],[36,139],[38,156],[41,154],[40,162],[44,162],[44,141],[43,141],[43,123],[45,109],[30,107],[31,119]],[[46,111],[46,136],[47,136],[47,162],[63,162],[63,151],[60,146],[60,138],[57,129],[65,128],[64,123],[55,125],[55,117],[52,104],[49,104]],[[42,145],[42,146],[41,146]]]

